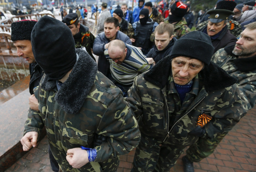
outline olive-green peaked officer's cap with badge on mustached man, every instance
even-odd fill
[[[210,22],[219,23],[229,18],[230,15],[234,14],[233,11],[225,9],[215,9],[207,12],[210,16],[208,17]]]

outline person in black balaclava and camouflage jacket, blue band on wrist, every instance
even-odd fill
[[[116,171],[119,155],[140,140],[121,90],[97,71],[87,52],[75,49],[71,31],[61,21],[43,16],[32,30],[31,44],[45,75],[35,90],[40,112],[30,110],[25,122],[23,150],[35,147],[45,125],[63,172]],[[96,143],[95,136],[106,140]]]

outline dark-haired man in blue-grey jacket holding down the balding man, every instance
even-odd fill
[[[131,45],[130,38],[119,31],[118,19],[109,17],[104,22],[104,32],[98,34],[94,40],[93,52],[99,56],[98,71],[103,73],[108,78],[111,78],[110,64],[104,55],[104,51],[109,46],[109,42],[118,39]]]

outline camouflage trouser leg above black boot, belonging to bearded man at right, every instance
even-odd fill
[[[197,142],[191,145],[187,150],[187,158],[191,162],[200,162],[203,158],[212,154],[221,140],[226,136],[228,132],[218,134],[213,139],[199,138]]]

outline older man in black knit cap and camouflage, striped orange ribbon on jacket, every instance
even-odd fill
[[[228,132],[245,114],[235,79],[210,62],[213,50],[205,33],[187,33],[135,77],[126,98],[142,135],[133,171],[170,171],[184,148]]]

